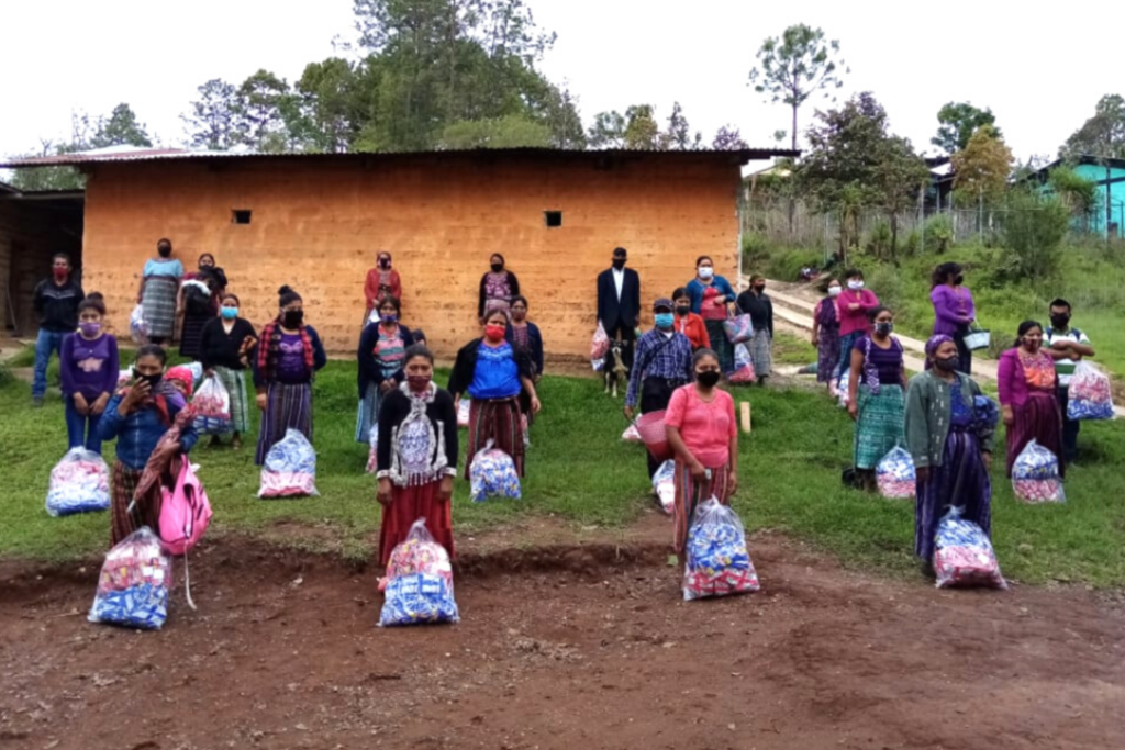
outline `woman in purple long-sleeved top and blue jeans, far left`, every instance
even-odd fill
[[[98,292],[79,302],[78,333],[63,338],[58,372],[70,448],[101,453],[98,422],[117,388],[117,340],[104,329],[106,302]]]

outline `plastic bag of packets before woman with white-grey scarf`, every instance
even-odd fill
[[[387,577],[379,581],[386,598],[379,626],[456,623],[461,617],[453,598],[453,567],[449,553],[433,541],[425,518],[411,526],[395,545],[387,562]]]

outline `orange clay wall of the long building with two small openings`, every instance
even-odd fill
[[[187,270],[214,253],[243,316],[260,327],[288,283],[330,352],[354,351],[363,279],[376,253],[403,278],[403,322],[426,332],[439,358],[479,335],[477,293],[488,256],[503,253],[530,300],[552,359],[588,358],[595,278],[613,247],[651,301],[713,256],[735,283],[737,161],[652,154],[231,160],[101,164],[89,174],[84,287],[106,296],[127,335],[142,266],[169,237]],[[249,225],[232,211],[252,211]],[[546,226],[543,211],[562,211]]]

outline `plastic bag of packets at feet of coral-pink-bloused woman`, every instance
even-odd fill
[[[685,602],[758,590],[758,573],[746,550],[742,522],[717,498],[695,508],[685,552]]]

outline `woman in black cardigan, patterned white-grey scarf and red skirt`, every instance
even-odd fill
[[[457,476],[457,409],[452,397],[433,385],[429,349],[411,346],[404,362],[405,382],[384,395],[379,409],[376,478],[382,566],[418,518],[425,518],[426,530],[453,557],[450,499]]]

